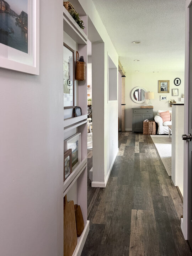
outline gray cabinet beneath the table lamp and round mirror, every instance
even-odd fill
[[[143,132],[143,121],[153,120],[153,108],[132,108],[132,132]]]

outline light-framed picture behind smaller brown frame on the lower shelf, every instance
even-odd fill
[[[72,150],[72,171],[81,162],[81,133],[76,133],[64,140],[64,150]]]

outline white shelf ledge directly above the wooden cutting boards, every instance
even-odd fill
[[[63,196],[66,195],[66,193],[70,190],[70,188],[73,186],[75,181],[78,179],[82,171],[85,170],[87,166],[87,158],[84,158],[80,164],[75,168],[75,170],[72,172],[72,174],[69,175],[69,177],[64,181],[63,183]]]

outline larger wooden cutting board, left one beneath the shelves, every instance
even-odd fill
[[[77,245],[74,201],[64,197],[64,256],[72,256]]]

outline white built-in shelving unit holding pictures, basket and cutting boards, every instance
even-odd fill
[[[79,1],[73,0],[70,2],[73,4],[75,10],[80,14],[80,17],[82,17],[82,20],[85,22],[85,26],[87,26],[87,16]],[[63,7],[63,31],[69,36],[67,36],[68,38],[66,42],[64,33],[64,43],[69,44],[69,38],[71,38],[72,43],[70,47],[73,49],[72,45],[75,45],[76,48],[73,50],[78,50],[79,55],[84,56],[84,60],[87,64],[87,27],[85,30],[82,30],[65,7]],[[74,41],[76,44],[74,44]],[[63,127],[65,139],[66,136],[70,137],[75,133],[81,133],[81,162],[64,181],[63,196],[65,196],[65,194],[70,194],[70,200],[74,200],[74,203],[78,203],[82,210],[85,228],[81,236],[78,238],[78,243],[73,253],[73,256],[80,256],[87,234],[89,233],[89,221],[87,220],[87,74],[85,81],[76,81],[75,84],[75,102],[77,106],[81,107],[82,113],[84,114],[78,117],[68,118],[70,110],[64,110]],[[71,111],[71,113],[72,112],[73,111]],[[65,115],[65,113],[67,114]]]

